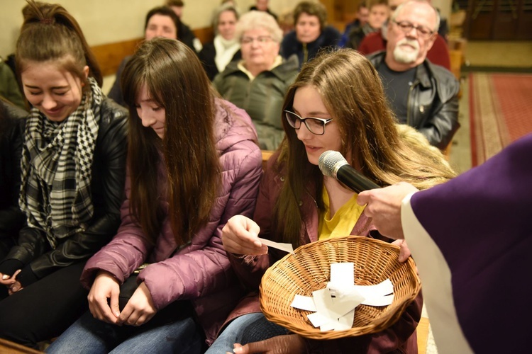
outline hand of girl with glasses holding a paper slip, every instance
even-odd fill
[[[259,225],[252,219],[235,215],[222,229],[223,248],[236,254],[266,254],[268,247],[259,241],[259,232]]]

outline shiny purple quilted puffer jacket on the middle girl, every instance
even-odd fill
[[[232,103],[218,100],[215,125],[223,182],[208,224],[194,235],[192,242],[172,255],[177,246],[168,217],[155,246],[145,241],[129,212],[128,176],[118,233],[89,259],[82,274],[82,284],[89,288],[99,270],[107,270],[123,282],[145,261],[152,263],[140,272],[138,281],[145,282],[155,307],[162,309],[175,300],[192,300],[208,338],[214,336],[241,295],[223,250],[221,229],[233,215],[253,215],[262,175],[262,155],[248,114]],[[162,163],[159,185],[161,207],[167,211],[167,179]]]

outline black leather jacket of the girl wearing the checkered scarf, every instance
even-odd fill
[[[0,263],[0,272],[4,263],[19,261],[25,267],[17,279],[27,286],[58,268],[89,258],[116,234],[126,180],[127,115],[127,111],[111,99],[102,101],[92,164],[94,216],[87,229],[58,239],[60,243],[51,249],[43,231],[23,227],[18,233],[17,246]]]

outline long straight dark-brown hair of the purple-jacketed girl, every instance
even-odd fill
[[[130,107],[129,169],[131,205],[151,241],[160,232],[157,165],[165,159],[170,221],[177,244],[184,244],[208,222],[221,183],[221,165],[214,136],[216,93],[194,52],[177,40],[143,42],[126,64],[121,78]],[[165,137],[143,127],[135,106],[141,88],[165,108]]]

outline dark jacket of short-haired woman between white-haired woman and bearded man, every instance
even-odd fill
[[[336,47],[340,40],[340,32],[330,25],[321,30],[321,34],[314,42],[303,44],[297,40],[296,31],[292,30],[284,36],[281,43],[281,55],[284,59],[297,55],[299,69],[310,59],[316,57],[318,50],[325,47]]]

